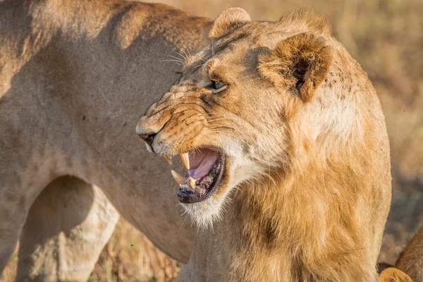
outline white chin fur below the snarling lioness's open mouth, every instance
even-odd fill
[[[185,212],[191,216],[198,227],[206,229],[219,221],[224,212],[224,206],[228,204],[228,193],[231,189],[226,189],[223,195],[211,195],[207,200],[194,204],[180,204]]]

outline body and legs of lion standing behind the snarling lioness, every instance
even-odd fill
[[[208,23],[160,4],[1,1],[0,271],[21,236],[21,281],[86,279],[118,219],[114,207],[187,262],[190,221],[168,164],[147,157],[135,125],[178,78],[164,62],[179,56],[178,38],[193,48]],[[85,182],[44,189],[66,175]]]

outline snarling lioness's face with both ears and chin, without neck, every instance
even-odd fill
[[[200,224],[219,217],[240,183],[288,168],[289,119],[331,62],[326,37],[293,36],[278,23],[251,22],[240,9],[223,12],[210,35],[212,43],[190,56],[178,84],[137,125],[152,152],[181,154],[188,174],[172,172],[178,198]]]

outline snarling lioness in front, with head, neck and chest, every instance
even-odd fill
[[[391,174],[366,73],[305,11],[229,9],[209,37],[137,124],[188,168],[178,200],[202,228],[181,281],[377,281]]]

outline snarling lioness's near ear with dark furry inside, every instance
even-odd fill
[[[259,71],[277,87],[288,87],[307,102],[324,80],[333,51],[324,35],[302,33],[279,42],[259,59]]]

